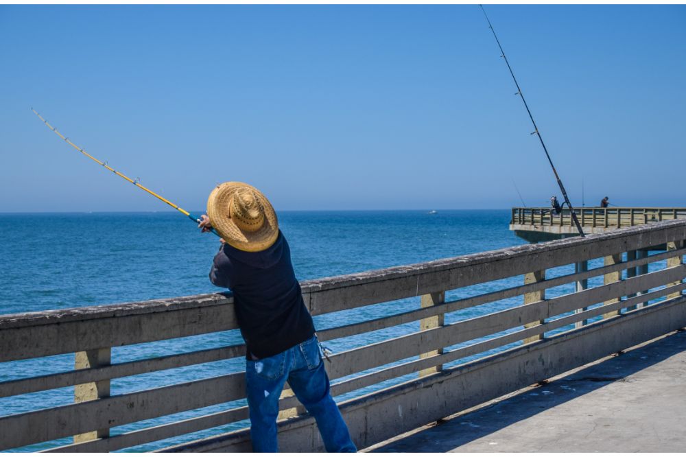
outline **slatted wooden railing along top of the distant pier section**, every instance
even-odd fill
[[[686,220],[686,208],[575,208],[576,217],[584,227],[619,229],[665,220]],[[547,208],[512,208],[510,224],[519,226],[573,227],[571,213],[564,208],[560,214]]]

